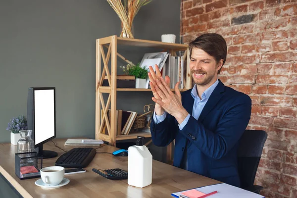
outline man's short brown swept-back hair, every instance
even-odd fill
[[[192,55],[193,48],[202,49],[209,55],[213,56],[217,63],[221,59],[224,60],[223,65],[226,62],[227,44],[225,39],[219,34],[216,34],[216,33],[202,34],[201,36],[197,37],[195,40],[191,41],[189,44],[190,57]],[[218,74],[220,73],[221,69],[218,71]]]

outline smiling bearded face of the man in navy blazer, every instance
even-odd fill
[[[215,58],[202,49],[193,48],[190,61],[192,78],[198,86],[211,86],[218,76],[223,59],[216,62]]]

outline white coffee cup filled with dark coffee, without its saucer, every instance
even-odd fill
[[[65,168],[62,166],[49,166],[40,170],[42,181],[47,186],[55,186],[61,183],[64,178]]]

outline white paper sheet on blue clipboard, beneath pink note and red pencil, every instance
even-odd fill
[[[211,193],[213,191],[218,192],[214,195],[209,196],[209,198],[264,198],[261,195],[258,195],[225,183],[204,186],[204,187],[196,188],[195,190],[205,194]],[[190,190],[187,190],[187,191],[190,191]],[[183,195],[183,193],[187,191],[181,191],[181,192],[173,193],[171,195],[175,198],[178,198],[180,195]]]

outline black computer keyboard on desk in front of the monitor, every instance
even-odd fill
[[[65,168],[84,168],[96,155],[95,148],[72,148],[62,154],[55,162],[56,166]]]

